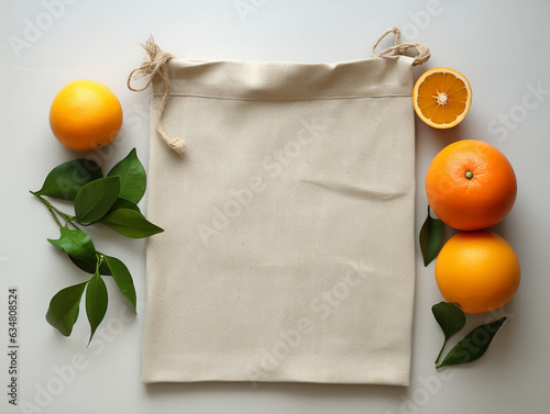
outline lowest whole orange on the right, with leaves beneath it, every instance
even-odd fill
[[[490,231],[461,232],[436,261],[436,280],[446,301],[466,313],[494,311],[516,294],[519,260],[512,246]]]

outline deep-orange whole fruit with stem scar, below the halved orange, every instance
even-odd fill
[[[514,206],[516,194],[510,163],[482,141],[448,145],[426,174],[426,195],[433,213],[462,231],[483,230],[501,222]]]

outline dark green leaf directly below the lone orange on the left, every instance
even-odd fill
[[[75,159],[55,167],[47,175],[40,195],[50,195],[62,200],[75,200],[82,186],[102,178],[101,167],[88,159]]]

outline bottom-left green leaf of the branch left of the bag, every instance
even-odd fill
[[[57,292],[50,301],[46,321],[64,336],[69,336],[78,318],[80,299],[88,282],[74,284]]]

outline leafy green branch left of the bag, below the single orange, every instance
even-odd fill
[[[59,238],[48,238],[50,244],[67,254],[80,270],[92,275],[87,281],[62,289],[52,298],[46,321],[62,335],[69,336],[73,332],[85,296],[91,342],[107,313],[109,298],[102,276],[113,278],[135,312],[135,288],[128,267],[118,258],[96,250],[91,237],[80,226],[102,224],[131,238],[163,232],[147,221],[138,206],[145,187],[145,169],[133,148],[107,176],[96,163],[75,159],[55,167],[42,188],[31,191],[59,226]],[[61,211],[45,197],[74,201],[75,214]]]

